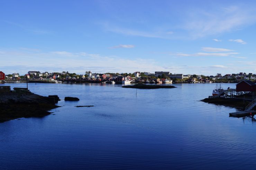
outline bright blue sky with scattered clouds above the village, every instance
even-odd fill
[[[256,1],[2,0],[0,71],[256,73]]]

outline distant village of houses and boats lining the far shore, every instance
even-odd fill
[[[256,80],[256,75],[253,73],[234,73],[216,76],[204,76],[196,74],[172,74],[167,71],[149,72],[134,72],[134,73],[92,73],[86,71],[85,74],[63,72],[43,72],[28,71],[25,75],[19,73],[5,74],[0,71],[0,80],[29,80],[29,81],[53,81],[53,82],[175,82],[175,83],[196,83],[196,82],[239,82],[241,80]]]

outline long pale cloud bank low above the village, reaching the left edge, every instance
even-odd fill
[[[2,64],[0,69],[8,73],[25,73],[30,69],[36,68],[38,68],[36,70],[39,71],[58,72],[68,70],[76,73],[84,73],[89,69],[99,73],[134,71],[154,72],[155,70],[170,71],[153,59],[144,60],[137,57],[130,60],[117,56],[101,56],[100,54],[89,54],[86,52],[52,51],[43,53],[37,51],[19,51],[19,49],[13,51],[1,50],[0,58],[3,57],[5,58],[5,64]],[[20,58],[22,58],[22,60],[20,60]],[[34,62],[31,66],[28,66],[27,61]],[[111,64],[109,65],[106,63]],[[26,68],[27,70],[22,70],[22,68]]]

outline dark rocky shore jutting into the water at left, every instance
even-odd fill
[[[28,117],[44,117],[56,106],[56,97],[44,97],[28,90],[0,93],[0,122]]]

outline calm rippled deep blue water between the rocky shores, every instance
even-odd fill
[[[80,101],[59,101],[44,118],[0,123],[0,169],[255,169],[252,119],[199,101],[213,83],[175,86],[136,96],[112,84],[29,84],[34,93]]]

